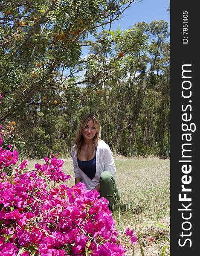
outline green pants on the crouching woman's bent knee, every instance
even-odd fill
[[[120,193],[112,173],[108,171],[102,172],[99,181],[101,197],[109,201],[109,208],[113,208],[113,205],[120,199]]]

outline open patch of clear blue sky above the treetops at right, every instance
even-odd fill
[[[166,11],[170,0],[142,0],[140,3],[132,3],[125,10],[122,19],[115,21],[111,29],[128,29],[134,23],[145,21],[150,23],[152,20],[165,20],[170,25],[170,15]]]

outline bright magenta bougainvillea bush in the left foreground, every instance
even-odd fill
[[[107,199],[83,183],[64,184],[63,160],[45,157],[26,170],[2,143],[0,133],[0,256],[125,255]]]

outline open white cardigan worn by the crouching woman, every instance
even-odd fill
[[[78,167],[77,152],[73,150],[75,145],[72,146],[72,159],[74,165],[75,178],[81,178],[82,182],[86,185],[87,189],[94,189],[99,185],[100,175],[104,171],[109,171],[115,177],[116,166],[113,159],[113,153],[103,140],[99,140],[96,150],[96,175],[93,180],[90,180],[86,174]]]

